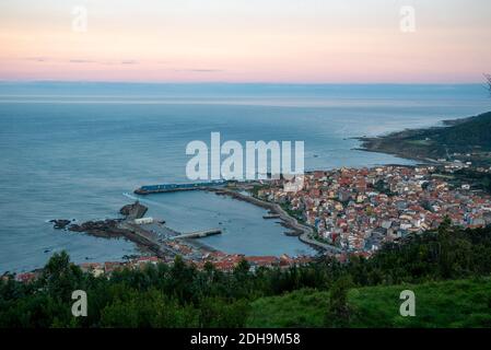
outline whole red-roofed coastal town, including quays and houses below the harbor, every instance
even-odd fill
[[[447,164],[447,174],[469,164]],[[200,188],[217,195],[233,196],[269,209],[270,214],[287,222],[303,242],[316,246],[324,254],[344,261],[350,255],[371,257],[386,242],[437,229],[444,220],[461,228],[482,228],[491,224],[491,197],[467,183],[455,186],[442,166],[377,166],[373,168],[337,168],[315,171],[294,182],[269,179],[254,184],[229,184],[226,188]],[[490,170],[478,168],[490,173]],[[248,190],[244,195],[244,190]],[[84,262],[83,271],[94,276],[110,276],[124,268],[138,269],[148,265],[173,264],[180,256],[188,264],[203,269],[211,262],[221,271],[232,271],[245,259],[252,270],[260,267],[289,268],[308,264],[312,256],[245,256],[227,254],[208,247],[196,237],[179,238],[179,233],[143,217],[147,208],[136,202],[125,206],[125,220],[102,223],[73,224],[71,231],[89,232],[126,238],[145,246],[142,256],[125,261]],[[137,218],[135,217],[137,215]],[[107,229],[108,223],[109,230]],[[284,223],[284,222],[283,222]],[[57,221],[55,228],[68,222]],[[104,226],[106,231],[101,231]],[[94,229],[95,228],[95,229]],[[331,249],[326,249],[326,247]],[[39,271],[16,275],[30,281]]]

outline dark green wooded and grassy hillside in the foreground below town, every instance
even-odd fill
[[[1,327],[491,327],[491,228],[436,231],[385,244],[372,258],[232,272],[177,257],[106,276],[83,272],[56,253],[37,279],[0,279]],[[417,317],[401,318],[404,289]],[[71,314],[86,291],[87,317]]]

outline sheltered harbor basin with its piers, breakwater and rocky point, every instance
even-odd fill
[[[140,195],[125,194],[135,202],[119,210],[122,218],[83,223],[58,219],[51,223],[58,230],[100,238],[125,238],[138,247],[140,256],[155,256],[165,262],[176,256],[197,265],[239,256],[306,261],[316,250],[330,252],[308,242],[312,228],[279,206],[252,196],[253,186],[235,182],[141,186],[135,190]]]

